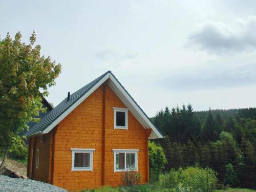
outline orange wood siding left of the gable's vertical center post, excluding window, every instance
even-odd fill
[[[103,87],[95,90],[59,124],[55,135],[53,184],[68,190],[102,185]],[[93,172],[71,172],[70,148],[94,148]]]

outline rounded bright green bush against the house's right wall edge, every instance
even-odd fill
[[[148,141],[148,153],[150,160],[150,181],[158,181],[164,164],[167,163],[163,148],[153,141]]]

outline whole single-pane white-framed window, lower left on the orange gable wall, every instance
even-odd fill
[[[94,148],[70,148],[72,152],[72,169],[93,171],[93,153]]]

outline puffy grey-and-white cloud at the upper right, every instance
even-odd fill
[[[197,45],[201,50],[215,54],[252,52],[256,49],[256,17],[240,19],[237,28],[223,23],[207,22],[199,31],[188,36],[188,45]]]

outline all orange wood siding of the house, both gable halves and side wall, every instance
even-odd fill
[[[49,133],[48,147],[43,149],[43,146],[39,146],[41,147],[40,157],[42,153],[48,154],[47,157],[44,157],[48,163],[39,165],[39,167],[45,167],[44,172],[47,173],[42,173],[39,168],[39,170],[35,170],[34,179],[53,183],[71,191],[98,188],[102,185],[118,186],[122,184],[121,173],[114,173],[112,150],[138,149],[140,150],[138,153],[138,172],[142,175],[141,182],[148,182],[147,138],[150,130],[145,130],[130,111],[128,130],[114,130],[113,107],[126,108],[126,106],[109,86],[105,87],[104,100],[103,86],[104,84],[58,124],[54,130],[56,131],[55,138],[53,130]],[[40,142],[40,138],[37,139],[37,142]],[[31,146],[33,146],[32,141]],[[52,151],[53,148],[54,151]],[[92,172],[72,172],[70,148],[95,149]],[[103,149],[105,149],[105,153],[103,153]],[[34,153],[35,157],[36,153]],[[52,160],[54,161],[53,164]],[[104,165],[103,162],[105,162]],[[51,173],[53,173],[53,177]]]

